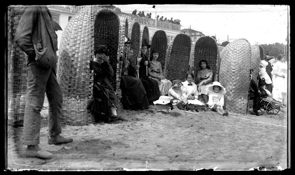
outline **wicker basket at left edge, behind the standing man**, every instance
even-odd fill
[[[21,18],[22,6],[7,7],[7,119],[12,126],[23,126],[27,94],[27,55],[17,46],[14,37]]]

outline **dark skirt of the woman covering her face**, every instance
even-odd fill
[[[99,90],[96,85],[94,85],[93,88],[93,97],[88,104],[87,109],[91,111],[96,121],[104,121],[112,116],[110,107],[117,107],[117,96],[112,90],[102,88],[106,94],[105,96],[103,91]]]

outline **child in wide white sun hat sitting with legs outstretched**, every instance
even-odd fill
[[[218,81],[214,81],[213,84],[208,86],[208,88],[208,105],[211,108],[211,111],[216,111],[222,116],[228,116],[228,112],[223,110],[224,95],[226,94],[225,88]]]

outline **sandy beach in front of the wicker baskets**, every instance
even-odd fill
[[[220,116],[179,109],[118,109],[128,121],[62,125],[72,143],[47,144],[48,102],[41,111],[40,147],[55,158],[22,156],[23,128],[8,127],[8,169],[21,171],[278,170],[287,168],[286,107],[276,115]],[[251,110],[251,109],[250,109]]]

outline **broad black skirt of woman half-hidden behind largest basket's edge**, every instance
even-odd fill
[[[125,109],[143,110],[148,108],[149,101],[140,79],[132,76],[121,76],[122,104]]]

